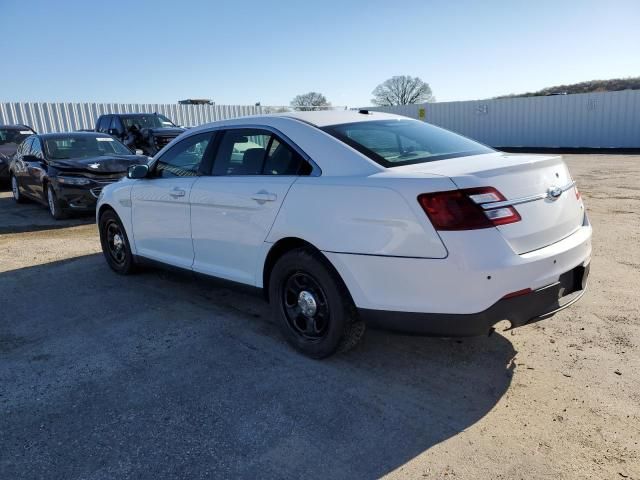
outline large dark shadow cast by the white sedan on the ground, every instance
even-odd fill
[[[497,333],[369,331],[310,360],[262,299],[101,255],[0,291],[6,478],[378,478],[480,420],[513,373]]]

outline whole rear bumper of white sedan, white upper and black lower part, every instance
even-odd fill
[[[446,233],[449,255],[443,259],[324,254],[346,284],[356,308],[373,323],[382,317],[408,322],[409,326],[424,321],[431,326],[409,330],[442,335],[486,332],[505,318],[520,325],[549,313],[555,309],[553,300],[560,298],[555,295],[547,301],[554,285],[567,272],[586,267],[591,258],[591,225],[587,220],[569,237],[522,255],[516,254],[495,229]],[[504,299],[522,290],[532,293],[526,298]],[[556,308],[568,301],[563,299]],[[507,316],[504,310],[515,313]],[[403,322],[404,318],[410,320]],[[467,321],[478,323],[477,328],[452,325]]]

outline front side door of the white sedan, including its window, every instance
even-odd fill
[[[191,135],[151,166],[131,189],[133,237],[138,255],[191,268],[189,195],[214,133]]]

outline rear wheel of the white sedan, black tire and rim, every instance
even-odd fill
[[[353,348],[365,331],[346,285],[321,253],[299,248],[275,263],[269,302],[287,341],[312,358]]]

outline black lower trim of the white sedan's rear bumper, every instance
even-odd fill
[[[359,309],[368,325],[405,333],[439,336],[476,336],[508,320],[511,328],[555,315],[580,300],[587,288],[589,265],[565,272],[557,282],[512,298],[504,298],[488,309],[471,314],[392,312]]]

